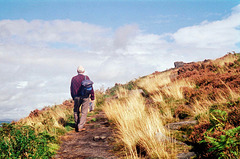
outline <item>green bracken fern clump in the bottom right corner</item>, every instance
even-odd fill
[[[240,155],[240,126],[230,125],[226,111],[214,110],[210,113],[211,125],[204,133],[204,140],[210,148],[208,152],[217,158],[237,158]]]

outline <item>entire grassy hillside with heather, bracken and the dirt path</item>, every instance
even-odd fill
[[[97,90],[85,132],[73,131],[72,100],[4,125],[1,156],[184,158],[193,152],[195,158],[237,158],[239,87],[235,53],[154,72]]]

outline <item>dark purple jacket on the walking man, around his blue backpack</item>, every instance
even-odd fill
[[[86,79],[90,80],[88,76],[86,76]],[[73,99],[79,97],[78,90],[80,89],[83,80],[85,80],[85,75],[83,74],[78,74],[72,78],[70,91]],[[94,90],[92,90],[90,98],[91,100],[94,100]]]

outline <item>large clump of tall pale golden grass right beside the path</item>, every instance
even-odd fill
[[[116,123],[117,137],[126,146],[129,157],[139,158],[136,146],[141,147],[151,158],[173,158],[175,155],[175,145],[164,140],[168,132],[163,126],[159,111],[146,109],[144,98],[140,94],[124,101],[113,100],[103,110]]]

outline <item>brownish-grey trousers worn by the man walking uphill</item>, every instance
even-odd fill
[[[90,102],[89,98],[80,98],[80,97],[74,98],[74,109],[73,109],[74,121],[75,121],[75,125],[78,126],[78,129],[82,129],[86,123],[89,102]],[[81,107],[81,118],[79,118],[80,107]]]

